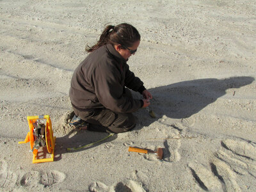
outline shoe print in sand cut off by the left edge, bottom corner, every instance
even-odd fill
[[[6,161],[0,161],[0,188],[14,188],[17,182],[17,175],[8,170]]]

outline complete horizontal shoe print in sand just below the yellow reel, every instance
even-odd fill
[[[22,179],[20,180],[20,185],[36,187],[39,183],[44,186],[51,186],[52,184],[63,182],[64,179],[65,174],[56,170],[50,172],[31,171],[23,175]]]

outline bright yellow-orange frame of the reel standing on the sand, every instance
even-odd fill
[[[46,119],[45,125],[45,143],[46,148],[49,154],[51,154],[50,158],[38,159],[38,150],[36,148],[33,149],[34,146],[34,134],[33,134],[33,123],[36,122],[38,119]],[[28,125],[29,125],[29,132],[24,141],[19,141],[19,143],[28,143],[30,142],[30,148],[33,149],[33,161],[32,163],[44,163],[44,162],[52,162],[54,161],[54,149],[55,149],[55,141],[56,137],[53,136],[52,132],[52,122],[49,115],[38,115],[38,116],[27,116]]]

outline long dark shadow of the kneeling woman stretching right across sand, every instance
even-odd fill
[[[152,93],[153,99],[150,100],[149,109],[154,111],[157,118],[148,118],[148,112],[146,113],[145,110],[140,110],[135,115],[139,116],[140,122],[140,117],[145,120],[145,114],[147,114],[147,120],[142,122],[146,126],[164,115],[173,119],[188,118],[225,95],[228,89],[241,88],[254,80],[253,77],[246,76],[196,79],[150,88],[148,91]],[[235,97],[236,92],[239,93],[239,90],[228,93],[226,97]]]

